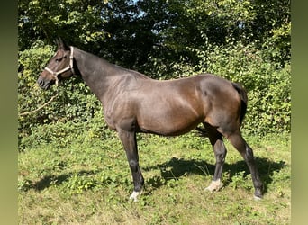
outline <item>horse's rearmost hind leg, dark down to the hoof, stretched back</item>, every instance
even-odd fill
[[[240,130],[228,136],[231,144],[236,148],[240,155],[245,159],[245,162],[249,166],[252,182],[255,187],[255,198],[262,198],[263,184],[258,175],[258,169],[253,157],[253,151],[240,135]]]

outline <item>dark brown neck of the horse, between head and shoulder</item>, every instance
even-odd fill
[[[119,68],[102,58],[77,49],[74,58],[77,68],[91,91],[104,103],[106,95],[116,83],[116,74]]]

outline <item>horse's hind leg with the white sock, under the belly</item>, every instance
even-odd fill
[[[213,181],[208,187],[205,188],[205,190],[213,192],[218,191],[222,187],[222,168],[224,165],[224,159],[227,155],[227,149],[224,146],[222,134],[210,125],[204,124],[204,126],[207,130],[207,135],[213,146],[213,152],[216,159]]]

